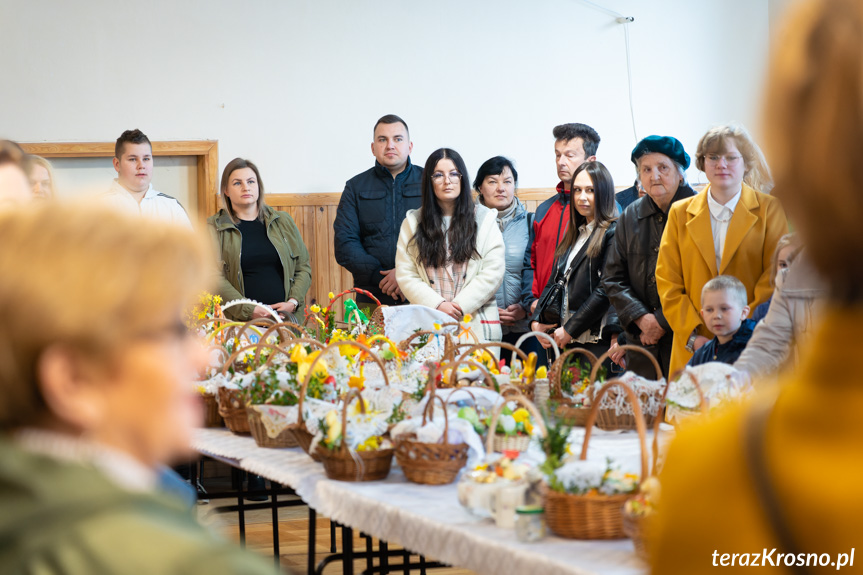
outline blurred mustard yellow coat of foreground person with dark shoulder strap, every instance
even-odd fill
[[[807,557],[810,573],[835,573],[840,553],[840,573],[863,570],[863,374],[848,363],[858,357],[853,352],[860,348],[861,323],[863,308],[825,312],[800,366],[781,382],[764,431],[767,475],[798,551],[818,554],[820,561],[827,560],[821,554],[831,555],[827,566],[815,569]],[[752,408],[735,407],[672,441],[660,473],[653,573],[713,573],[723,562],[728,567],[722,573],[791,573],[770,567],[783,550],[744,455],[744,417]],[[765,549],[767,568],[740,567],[741,561],[752,565],[756,554],[763,565]]]

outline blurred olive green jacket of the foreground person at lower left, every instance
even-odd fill
[[[276,572],[200,525],[180,499],[126,491],[92,466],[30,453],[0,434],[0,573]]]

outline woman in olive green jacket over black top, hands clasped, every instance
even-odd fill
[[[218,295],[225,302],[251,299],[294,320],[312,283],[309,252],[297,224],[264,203],[264,183],[249,160],[234,158],[225,166],[221,189],[225,207],[207,220],[219,250]],[[270,315],[252,304],[227,313],[242,321]]]

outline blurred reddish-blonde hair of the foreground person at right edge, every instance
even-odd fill
[[[764,117],[776,195],[833,297],[863,301],[863,3],[800,3],[773,48]]]

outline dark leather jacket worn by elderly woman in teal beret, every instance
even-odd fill
[[[694,195],[692,188],[681,184],[671,203]],[[650,196],[634,201],[617,220],[615,240],[605,262],[602,284],[620,325],[634,341],[641,333],[635,320],[646,313],[656,315],[659,325],[671,333],[656,291],[656,259],[667,222],[668,214]]]

